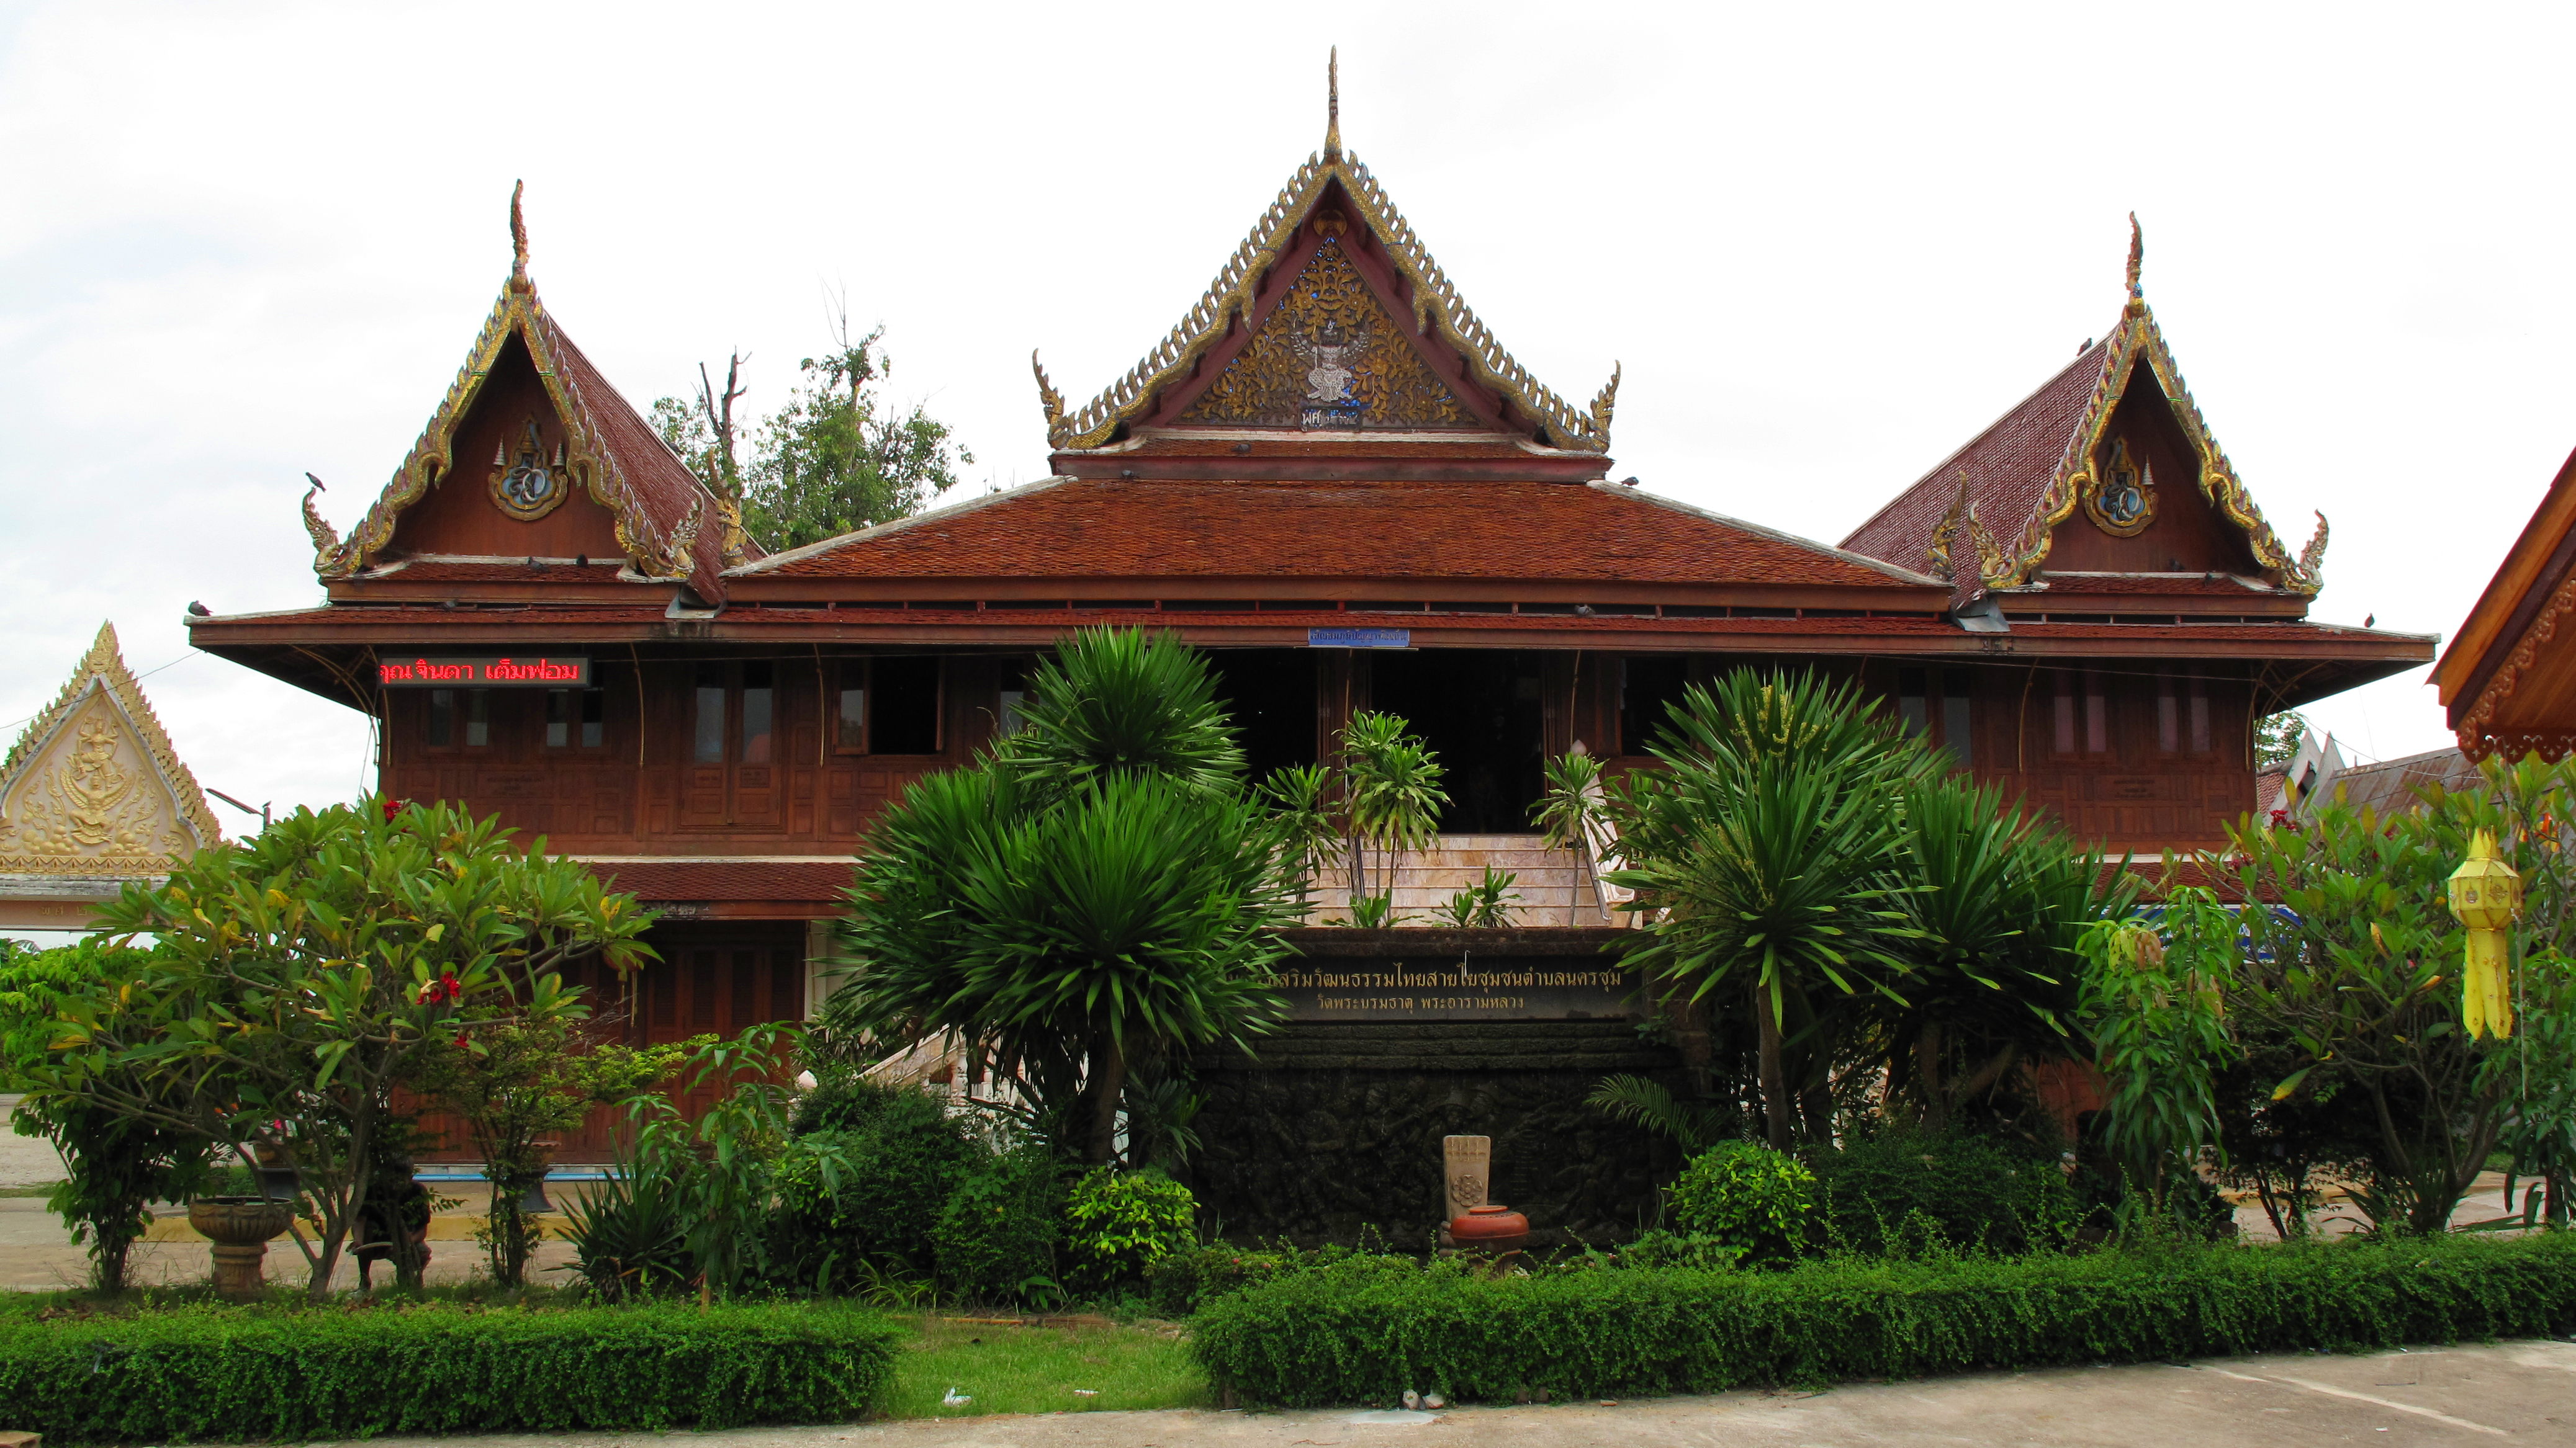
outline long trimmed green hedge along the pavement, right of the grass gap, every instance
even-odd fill
[[[2576,1329],[2576,1234],[1783,1273],[1291,1273],[1211,1301],[1193,1327],[1213,1386],[1283,1407],[2354,1350]]]

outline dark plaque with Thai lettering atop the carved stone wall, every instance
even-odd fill
[[[1605,958],[1334,961],[1280,969],[1291,1020],[1600,1020],[1636,1015],[1636,979]]]

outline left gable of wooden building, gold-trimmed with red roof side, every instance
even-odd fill
[[[538,523],[567,497],[587,497],[611,515],[611,544],[626,557],[626,577],[690,582],[703,598],[721,600],[724,567],[757,557],[742,533],[739,505],[708,492],[546,312],[528,278],[520,191],[510,193],[510,281],[474,350],[366,518],[340,538],[314,510],[312,492],[304,495],[314,572],[332,580],[374,567],[394,544],[404,513],[456,482],[518,523]],[[513,389],[500,384],[528,374],[536,379],[528,399],[502,397]],[[461,430],[487,397],[513,415],[482,438],[489,456],[459,456]],[[515,557],[536,549],[477,551]]]

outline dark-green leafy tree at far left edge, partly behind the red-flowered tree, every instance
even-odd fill
[[[149,951],[98,938],[54,951],[0,940],[5,1074],[15,1080],[41,1069],[62,1033],[64,1007],[88,992],[121,989],[144,974],[147,961]],[[152,1092],[152,1082],[134,1074],[121,1085]],[[214,1147],[193,1131],[49,1095],[18,1108],[15,1131],[44,1136],[62,1154],[64,1177],[46,1193],[46,1208],[62,1216],[75,1242],[88,1244],[90,1283],[108,1293],[126,1288],[126,1257],[152,1226],[149,1203],[191,1198],[214,1159]]]

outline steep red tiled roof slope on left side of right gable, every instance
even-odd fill
[[[1978,523],[2012,546],[2038,508],[2040,492],[2056,479],[2066,448],[2074,446],[2076,425],[2102,386],[2110,353],[2112,338],[2076,353],[2066,371],[2050,376],[1914,487],[1899,492],[1878,515],[1852,528],[1842,546],[1899,567],[1929,567],[1932,531],[1958,497],[1960,472],[1968,474],[1968,502],[1976,508]],[[1971,557],[1960,557],[1968,590],[1976,587]]]

